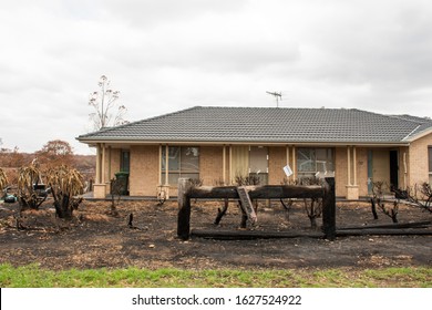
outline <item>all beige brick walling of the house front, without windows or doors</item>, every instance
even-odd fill
[[[432,134],[423,137],[410,146],[410,148],[400,149],[400,185],[404,182],[415,184],[428,180],[428,146],[432,145]],[[269,184],[279,185],[284,177],[282,167],[287,164],[286,147],[269,147]],[[383,152],[388,149],[382,148]],[[408,174],[404,175],[403,152],[407,152]],[[155,196],[158,185],[160,148],[157,145],[132,146],[131,147],[131,174],[130,192],[132,196]],[[105,156],[105,179],[114,177],[120,170],[121,149],[112,148],[111,156]],[[292,148],[289,147],[290,165],[294,166]],[[223,146],[200,146],[200,178],[204,184],[215,186],[216,182],[223,179]],[[336,161],[336,195],[344,197],[347,195],[347,147],[335,148]],[[107,165],[111,165],[111,175],[107,177]],[[387,164],[385,164],[387,165]],[[353,175],[351,173],[351,178]],[[226,147],[226,180],[229,180],[229,147]],[[359,195],[368,195],[368,148],[357,148],[357,184],[359,185]],[[176,196],[176,187],[172,187],[171,196]]]

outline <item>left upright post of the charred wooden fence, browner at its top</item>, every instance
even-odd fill
[[[192,183],[188,178],[178,179],[178,218],[177,236],[187,240],[191,234],[191,196],[188,194]]]

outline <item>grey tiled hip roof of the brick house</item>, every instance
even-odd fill
[[[432,120],[356,108],[204,107],[81,135],[79,141],[403,143]]]

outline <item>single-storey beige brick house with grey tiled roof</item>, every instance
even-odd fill
[[[204,185],[259,176],[261,184],[333,175],[336,195],[358,199],[371,182],[397,188],[432,180],[432,120],[356,108],[204,107],[78,137],[97,149],[94,196],[128,172],[132,196],[168,190],[179,177]]]

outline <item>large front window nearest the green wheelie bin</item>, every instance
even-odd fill
[[[168,165],[166,167],[166,157]],[[177,185],[179,177],[199,178],[199,147],[169,146],[162,147],[162,183],[168,173],[168,184]]]

